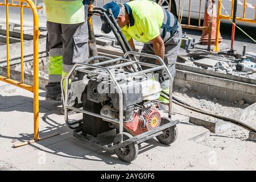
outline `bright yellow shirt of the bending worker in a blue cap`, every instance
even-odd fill
[[[127,41],[131,38],[138,42],[148,43],[160,35],[160,27],[164,20],[164,12],[157,3],[141,0],[131,1],[129,14],[130,25],[122,28]],[[127,11],[127,9],[126,9]]]

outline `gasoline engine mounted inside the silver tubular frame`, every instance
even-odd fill
[[[155,101],[162,90],[159,82],[145,76],[126,76],[129,72],[122,68],[111,71],[115,77],[122,78],[117,80],[123,92],[123,127],[125,130],[136,136],[159,127],[162,117]],[[84,92],[80,96],[83,109],[104,117],[119,119],[119,94],[108,74],[101,69],[94,69],[92,73],[82,75],[79,87],[84,85],[82,86]],[[81,76],[76,75],[76,77]],[[71,83],[71,87],[75,88],[75,85],[77,82]],[[71,89],[69,92],[69,101],[73,104],[75,102],[78,104],[80,100],[77,93],[79,93],[77,89]],[[108,123],[108,126],[102,127],[102,120],[104,121],[104,119],[84,114],[82,121],[84,133],[97,136],[102,133],[102,130],[108,131],[113,128],[118,130],[119,125],[114,125],[114,123]]]

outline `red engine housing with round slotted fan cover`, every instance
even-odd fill
[[[125,129],[133,136],[154,130],[161,123],[161,114],[154,107],[144,111],[143,116],[135,113],[133,118],[133,121],[124,124]]]

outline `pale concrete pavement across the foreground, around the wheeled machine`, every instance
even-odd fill
[[[44,99],[44,92],[40,95],[40,100]],[[177,125],[177,140],[170,146],[165,146],[155,138],[147,140],[139,145],[139,155],[132,163],[122,162],[114,152],[106,152],[89,142],[81,141],[73,137],[72,130],[64,121],[64,116],[60,115],[60,106],[54,103],[44,102],[40,107],[39,125],[40,136],[45,136],[54,132],[60,133],[52,138],[31,143],[27,146],[12,148],[15,141],[28,140],[33,138],[33,104],[32,94],[26,90],[18,93],[8,94],[10,97],[18,98],[13,102],[13,106],[0,109],[0,142],[1,158],[0,168],[7,166],[8,169],[23,170],[212,170],[226,169],[229,167],[230,157],[233,151],[241,148],[228,147],[224,150],[214,148],[207,144],[202,144],[201,137],[210,138],[208,130],[201,126],[188,123],[188,117],[179,114],[172,116],[173,119],[180,119]],[[3,93],[1,96],[6,97]],[[22,98],[23,97],[23,98]],[[21,102],[23,99],[23,103]],[[18,103],[18,105],[15,105]],[[40,102],[42,103],[42,102]],[[42,105],[40,105],[42,106]],[[49,108],[52,108],[50,110]],[[73,117],[73,118],[72,118]],[[81,115],[71,115],[72,119],[79,119]],[[108,139],[108,135],[101,137]],[[236,144],[233,144],[235,146]],[[237,165],[232,169],[245,168],[245,163],[249,169],[254,169],[256,156],[250,156],[252,148],[246,144],[243,148],[246,151],[237,153]],[[247,147],[247,148],[246,148]],[[212,152],[216,151],[217,163],[220,166],[211,165]],[[233,152],[234,153],[234,152]],[[247,158],[246,158],[247,156]],[[246,158],[243,160],[243,158]],[[241,164],[241,165],[240,165]],[[240,167],[239,167],[240,165]]]

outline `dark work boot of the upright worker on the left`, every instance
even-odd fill
[[[46,100],[47,101],[61,101],[60,82],[49,82],[46,85]]]

